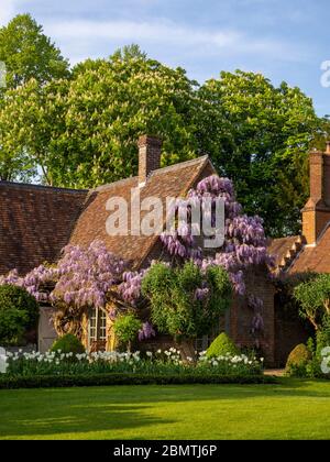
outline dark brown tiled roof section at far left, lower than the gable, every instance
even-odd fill
[[[55,261],[87,191],[0,182],[0,274]]]

